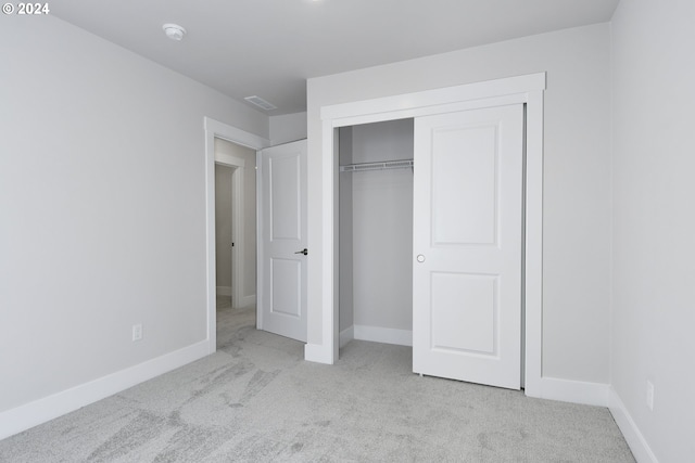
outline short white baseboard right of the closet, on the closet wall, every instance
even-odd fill
[[[527,383],[529,383],[528,378]],[[603,383],[586,383],[544,376],[532,382],[532,384],[528,384],[526,395],[538,399],[608,407],[609,387]]]

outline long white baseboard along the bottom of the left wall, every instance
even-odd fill
[[[0,439],[80,409],[208,353],[207,340],[0,412]]]

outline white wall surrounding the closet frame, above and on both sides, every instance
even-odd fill
[[[543,374],[609,381],[609,26],[308,80],[308,342],[321,339],[321,124],[330,104],[547,72]]]

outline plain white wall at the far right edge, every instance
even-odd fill
[[[661,462],[695,454],[693,18],[691,0],[623,0],[611,24],[611,386]]]

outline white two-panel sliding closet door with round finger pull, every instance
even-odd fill
[[[415,119],[413,371],[520,388],[523,111]]]

